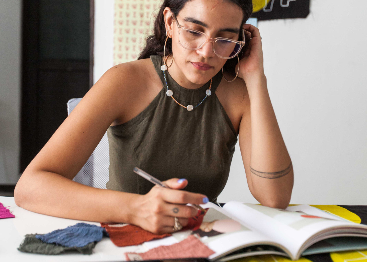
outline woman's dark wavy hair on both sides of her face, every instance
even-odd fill
[[[150,55],[160,55],[163,57],[163,48],[164,42],[166,41],[166,28],[164,26],[164,17],[163,17],[163,10],[165,7],[169,7],[171,11],[177,16],[179,11],[185,6],[185,4],[192,0],[164,0],[163,4],[161,5],[159,12],[156,16],[153,28],[153,34],[146,37],[145,39],[145,47],[139,54],[139,59],[149,58]],[[252,0],[226,0],[235,3],[242,9],[243,12],[243,19],[241,22],[241,27],[250,18],[252,13]],[[243,41],[242,33],[239,34],[238,41]],[[247,44],[241,49],[238,57],[243,57],[244,51],[247,48]],[[167,45],[166,45],[166,54],[172,53],[172,39],[168,38]],[[231,59],[228,59],[223,68],[226,72],[234,73],[235,66],[238,63],[237,56]]]

